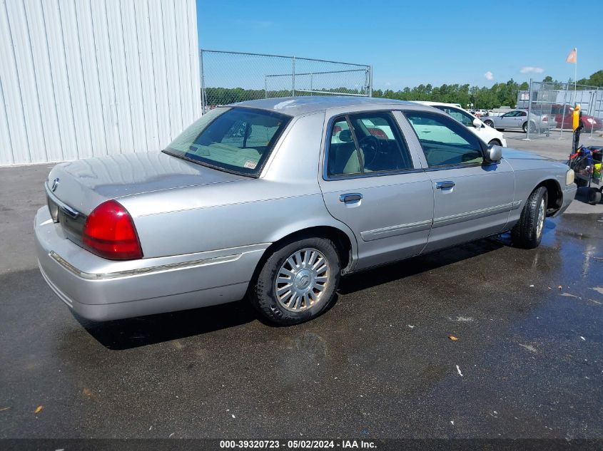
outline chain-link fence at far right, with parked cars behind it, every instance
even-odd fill
[[[527,110],[526,138],[571,133],[574,105],[582,111],[582,138],[603,133],[603,88],[558,82],[529,82],[517,95],[517,108]]]

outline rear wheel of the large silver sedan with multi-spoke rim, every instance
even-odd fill
[[[340,273],[339,254],[330,239],[284,242],[263,264],[250,301],[272,323],[303,323],[333,302]]]

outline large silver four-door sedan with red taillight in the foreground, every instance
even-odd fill
[[[64,162],[35,219],[44,279],[96,321],[246,297],[293,324],[340,277],[510,230],[537,247],[568,167],[487,146],[440,110],[348,97],[203,115],[162,152]]]

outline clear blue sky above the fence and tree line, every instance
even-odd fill
[[[603,69],[599,1],[197,0],[199,46],[373,65],[375,89],[567,81]],[[587,19],[587,20],[582,20]],[[596,20],[592,21],[594,25]],[[576,25],[572,25],[576,24]],[[575,32],[572,32],[572,28]]]

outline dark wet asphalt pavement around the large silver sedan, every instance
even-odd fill
[[[0,198],[0,437],[603,437],[603,214],[350,276],[300,326],[90,323],[36,267],[38,191]]]

